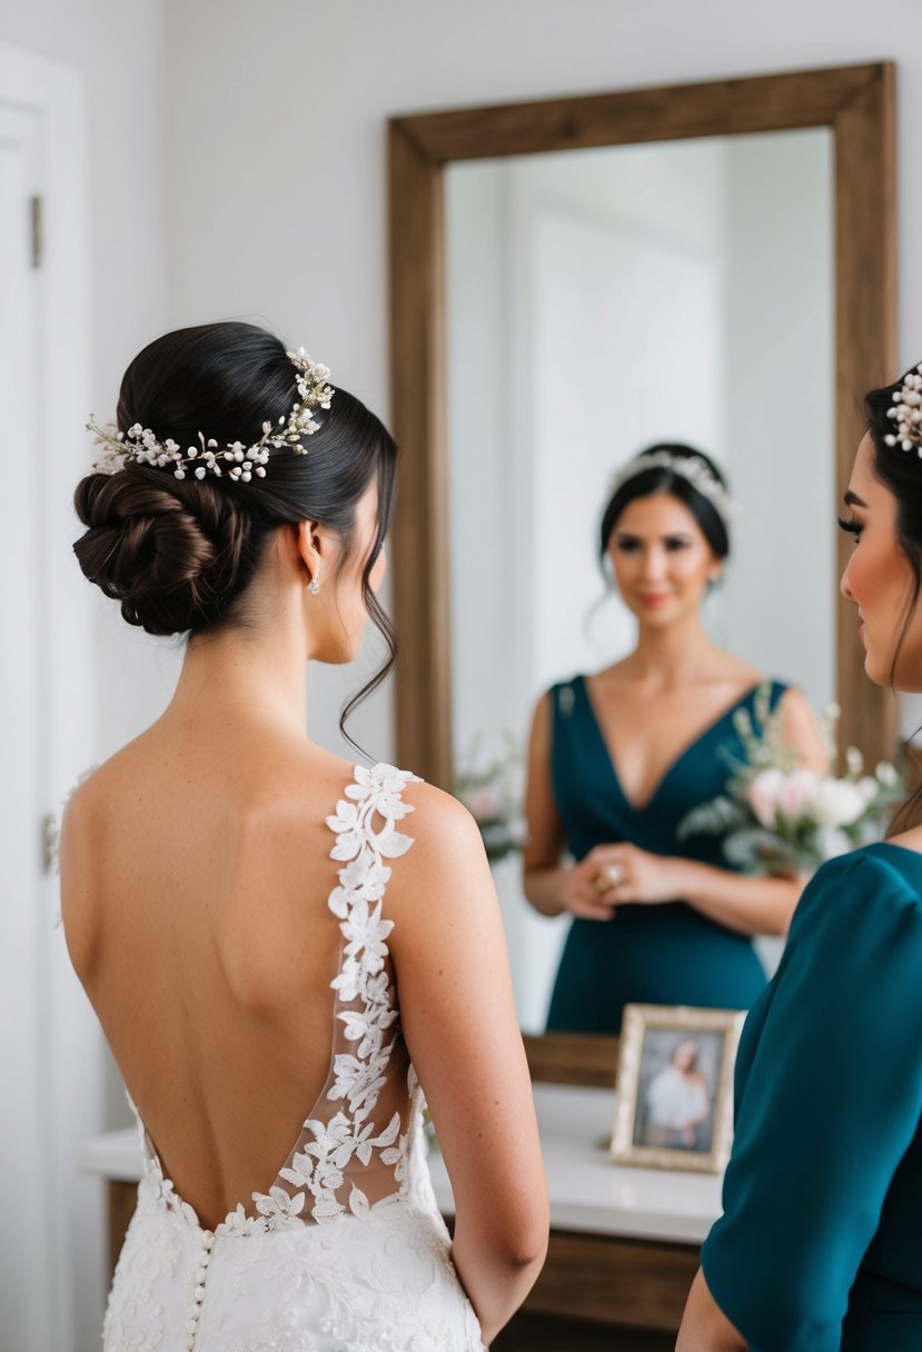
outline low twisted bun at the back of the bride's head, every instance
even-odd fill
[[[203,633],[222,618],[249,525],[233,493],[135,465],[88,475],[74,507],[88,527],[74,545],[80,566],[130,625],[166,635]]]

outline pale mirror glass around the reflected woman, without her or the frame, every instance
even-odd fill
[[[730,480],[712,638],[834,698],[833,223],[825,128],[449,166],[458,768],[523,748],[542,691],[631,649],[596,534],[612,476],[657,441]],[[530,911],[516,856],[496,877],[520,1023],[542,1032],[568,921]]]

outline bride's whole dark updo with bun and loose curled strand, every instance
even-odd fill
[[[296,369],[278,338],[254,324],[177,329],[149,343],[122,380],[116,422],[158,441],[253,445],[264,422],[287,418],[299,397]],[[214,633],[251,621],[246,594],[266,544],[283,525],[319,521],[349,556],[356,504],[377,483],[377,533],[362,572],[368,612],[384,635],[387,660],[347,703],[351,710],[387,677],[395,641],[369,576],[387,534],[396,489],[396,446],[365,406],[335,388],[307,456],[273,449],[265,479],[234,483],[207,475],[176,479],[170,466],[128,462],[115,475],[91,473],[74,493],[87,531],[74,545],[85,576],[120,602],[130,625],[149,634]]]

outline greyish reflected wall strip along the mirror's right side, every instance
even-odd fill
[[[722,619],[735,652],[822,708],[838,584],[833,141],[734,137],[726,155],[723,462],[739,515]]]

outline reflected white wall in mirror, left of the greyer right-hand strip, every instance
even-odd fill
[[[523,740],[552,681],[630,646],[619,607],[587,625],[604,599],[593,533],[619,465],[669,437],[721,456],[723,146],[461,164],[445,215],[464,760],[479,734]]]

